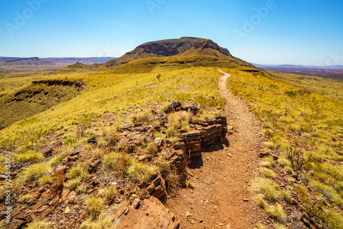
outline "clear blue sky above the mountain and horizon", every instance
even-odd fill
[[[197,36],[248,62],[343,65],[342,12],[342,0],[1,0],[0,56],[119,57]]]

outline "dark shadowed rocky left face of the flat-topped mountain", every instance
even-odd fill
[[[106,62],[103,67],[105,69],[112,69],[120,64],[126,64],[134,60],[141,60],[144,58],[175,56],[179,53],[187,51],[196,43],[204,38],[182,37],[179,39],[156,40],[143,45],[139,45],[132,51],[129,51],[120,58]]]

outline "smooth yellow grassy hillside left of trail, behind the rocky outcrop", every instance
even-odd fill
[[[106,117],[120,119],[122,123],[131,122],[130,114],[138,112],[137,108],[174,99],[214,106],[211,97],[215,97],[214,104],[220,108],[222,99],[217,88],[219,77],[220,73],[211,68],[169,71],[161,75],[100,73],[67,77],[68,80],[86,82],[80,95],[35,115],[34,123],[17,123],[1,130],[0,147],[31,147],[32,138],[38,139],[36,147],[40,147],[40,143],[47,141],[46,136],[50,132],[78,139],[76,131],[79,124],[88,128],[91,121],[102,123]],[[89,128],[89,132],[94,133],[94,126]]]

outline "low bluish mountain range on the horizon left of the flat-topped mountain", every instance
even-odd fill
[[[82,64],[104,64],[113,57],[92,57],[92,58],[17,58],[17,57],[0,57],[0,66],[47,66],[47,65],[71,65],[76,62]]]

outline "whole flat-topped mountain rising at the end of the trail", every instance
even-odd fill
[[[144,43],[120,58],[106,62],[101,68],[113,69],[115,73],[139,73],[200,66],[261,70],[235,58],[228,49],[212,40],[194,37]]]

